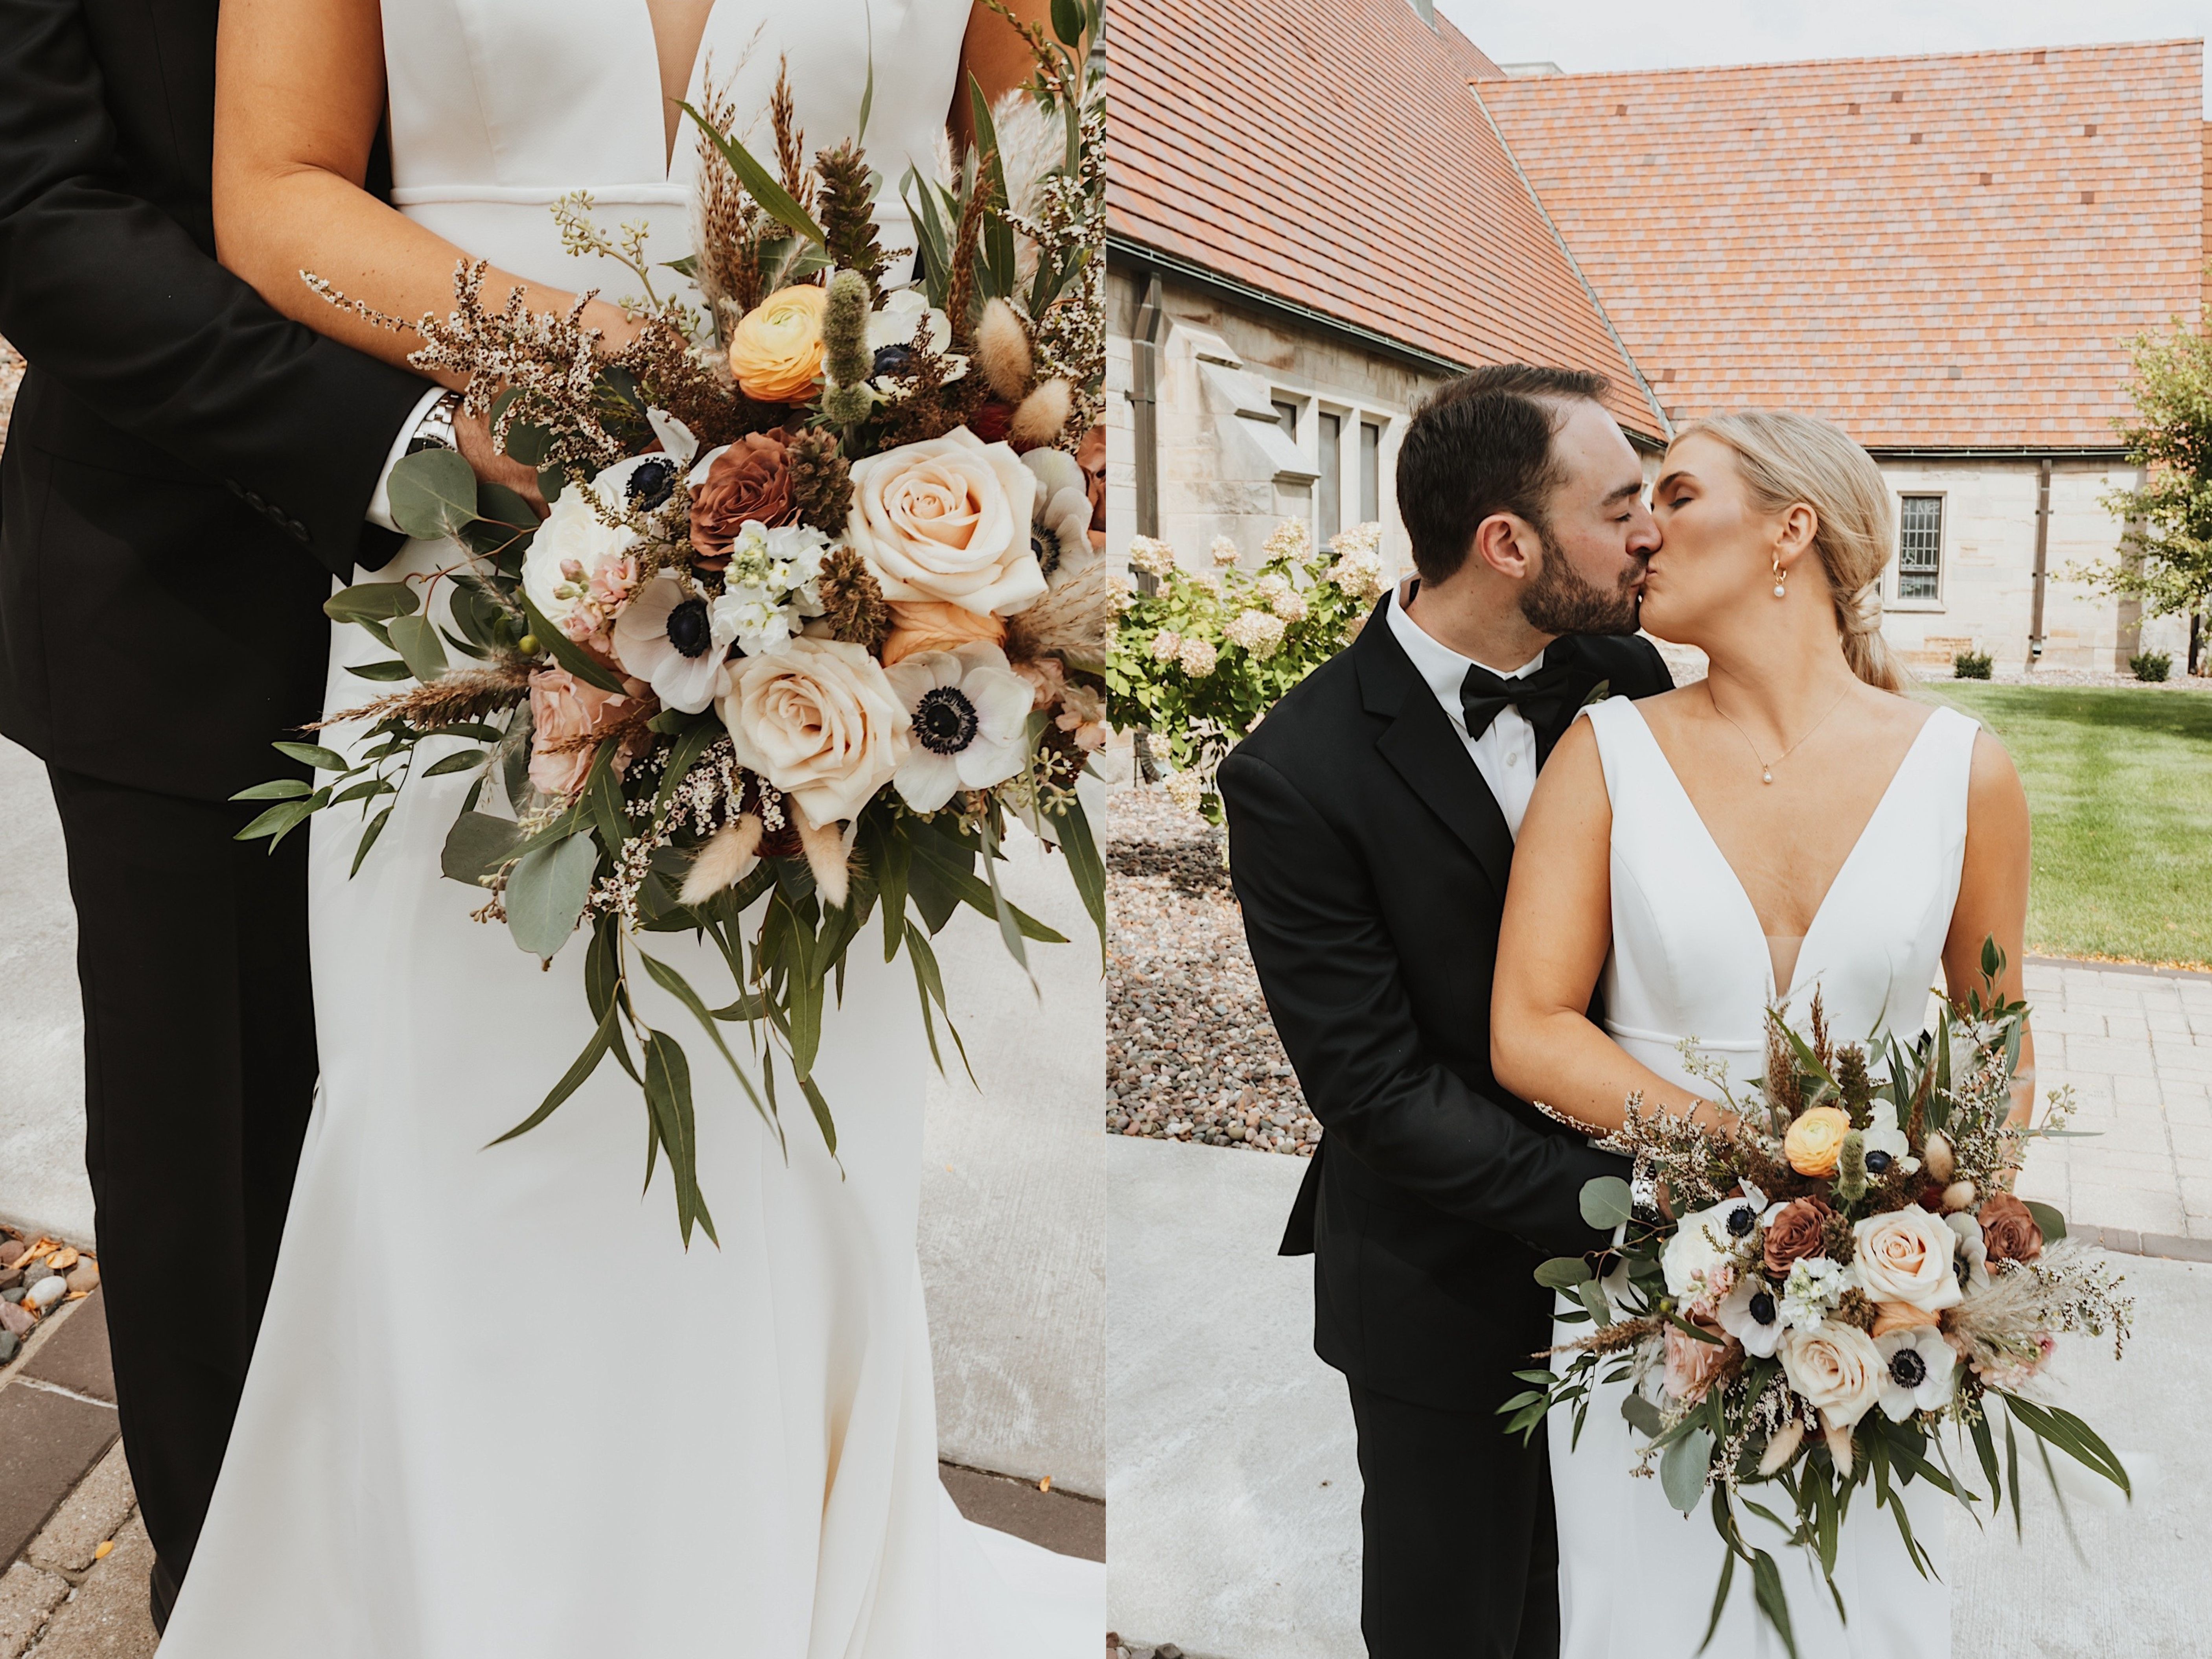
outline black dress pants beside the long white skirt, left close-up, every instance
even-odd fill
[[[272,774],[281,765],[274,757]],[[307,834],[51,770],[124,1455],[166,1577],[208,1515],[314,1099]],[[265,803],[263,803],[265,805]]]

